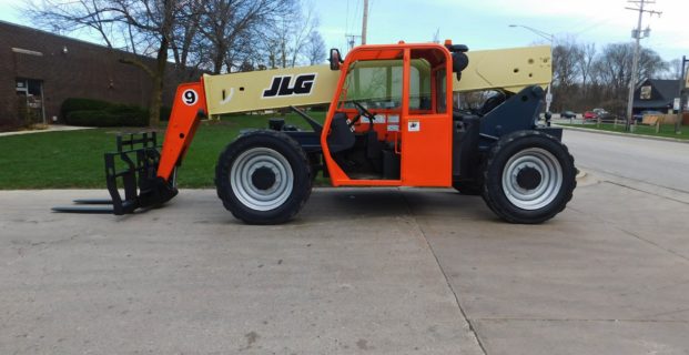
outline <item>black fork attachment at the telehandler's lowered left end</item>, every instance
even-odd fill
[[[155,132],[118,134],[116,144],[116,152],[104,154],[105,182],[111,200],[74,200],[78,205],[58,206],[53,211],[122,215],[133,213],[136,209],[161,205],[178,194],[174,173],[170,181],[158,176],[160,146]],[[122,182],[124,199],[118,187],[119,180]]]

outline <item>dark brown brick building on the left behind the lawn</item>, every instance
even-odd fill
[[[150,77],[120,62],[126,57],[133,54],[0,21],[0,131],[27,119],[63,122],[60,106],[69,98],[148,106]],[[175,80],[172,72],[166,74],[164,105],[172,102],[178,83],[192,77]]]

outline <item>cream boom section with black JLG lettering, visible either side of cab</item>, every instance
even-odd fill
[[[516,93],[527,87],[545,88],[550,83],[548,45],[469,51],[466,54],[469,64],[462,72],[462,80],[454,80],[455,92],[500,89]],[[205,105],[210,115],[216,115],[326,104],[333,100],[341,72],[328,65],[312,65],[204,75]]]

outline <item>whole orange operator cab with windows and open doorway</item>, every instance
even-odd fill
[[[450,185],[452,55],[433,43],[336,52],[322,138],[334,185]]]

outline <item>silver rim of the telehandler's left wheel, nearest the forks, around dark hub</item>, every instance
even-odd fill
[[[268,189],[259,189],[252,181],[257,169],[267,168],[275,174]],[[230,171],[230,186],[240,202],[256,211],[280,207],[292,193],[294,174],[285,156],[268,148],[253,148],[236,158]]]

